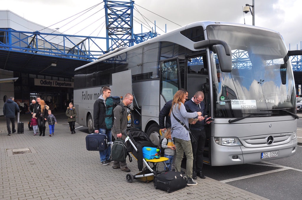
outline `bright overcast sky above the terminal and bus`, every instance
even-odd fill
[[[130,2],[130,0],[120,1]],[[213,20],[242,24],[245,22],[252,25],[252,15],[250,12],[243,14],[242,10],[245,4],[252,5],[252,0],[135,0],[134,2],[134,21],[139,22],[134,23],[134,33],[141,32],[140,23],[145,24],[143,32],[149,31],[145,28],[147,27],[145,20],[153,29],[154,24],[151,23],[156,21],[156,31],[160,34],[165,31],[165,24],[169,32],[195,21]],[[98,6],[85,14],[82,12],[94,5]],[[84,36],[105,36],[103,7],[103,0],[9,0],[1,3],[1,9],[10,10],[32,22],[52,29],[60,28],[59,31],[65,34]],[[255,25],[278,31],[288,48],[290,44],[291,50],[296,50],[297,46],[300,49],[301,8],[301,0],[255,0]],[[76,15],[78,13],[82,16]],[[73,15],[76,16],[71,17]],[[65,20],[67,18],[69,19]],[[68,23],[71,20],[72,22]]]

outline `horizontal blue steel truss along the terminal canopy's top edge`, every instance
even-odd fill
[[[63,35],[0,29],[0,48],[70,59],[97,60],[106,53],[98,43],[104,37]],[[124,39],[121,39],[124,40]],[[77,41],[77,42],[75,42]]]

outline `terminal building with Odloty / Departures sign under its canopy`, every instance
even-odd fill
[[[74,69],[90,61],[67,58],[68,54],[59,55],[53,50],[70,54],[81,39],[72,36],[63,39],[43,33],[60,34],[57,29],[43,27],[9,10],[0,10],[0,115],[10,96],[14,96],[18,104],[27,106],[32,99],[41,97],[50,109],[66,109],[65,105],[72,102]],[[29,47],[32,50],[28,50]]]

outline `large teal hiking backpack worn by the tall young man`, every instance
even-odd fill
[[[112,128],[114,122],[114,114],[113,109],[120,105],[120,97],[119,96],[110,96],[106,98],[106,108],[105,108],[105,125],[108,130]],[[121,105],[120,105],[121,106]],[[122,107],[122,113],[125,111],[124,106]]]

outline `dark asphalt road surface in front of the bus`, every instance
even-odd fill
[[[272,200],[302,199],[302,146],[288,158],[253,164],[210,167],[205,176]]]

